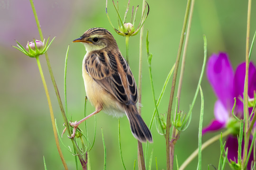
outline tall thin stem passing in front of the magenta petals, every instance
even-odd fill
[[[249,72],[249,38],[250,38],[250,16],[251,16],[251,0],[248,0],[248,10],[247,10],[247,34],[246,34],[246,74],[245,74],[245,86],[244,86],[244,119],[245,119],[245,131],[249,128],[249,111],[248,111],[248,72]],[[244,134],[244,154],[242,168],[245,168],[245,163],[247,160],[247,150],[249,138],[247,134]]]

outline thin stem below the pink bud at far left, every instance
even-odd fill
[[[64,165],[64,168],[65,168],[65,170],[67,170],[68,169],[67,164],[64,160],[64,156],[62,154],[60,144],[59,144],[58,134],[57,134],[57,130],[56,130],[56,127],[55,127],[55,119],[54,119],[52,103],[51,103],[50,95],[49,95],[48,88],[47,88],[47,85],[46,85],[45,76],[43,74],[43,70],[42,70],[42,67],[41,67],[41,64],[40,64],[39,56],[36,56],[36,59],[37,59],[38,69],[39,69],[39,72],[40,72],[40,75],[41,75],[41,78],[42,78],[42,82],[43,82],[43,85],[44,85],[44,88],[45,88],[45,91],[46,91],[46,98],[47,98],[48,105],[49,105],[49,110],[50,110],[51,121],[52,121],[52,125],[53,125],[54,137],[55,137],[55,142],[56,142],[56,145],[57,145],[57,150],[58,150],[59,155],[61,157],[61,161]]]

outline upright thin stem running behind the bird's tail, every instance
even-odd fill
[[[144,14],[144,6],[145,0],[142,0],[142,17]],[[141,27],[140,30],[140,41],[139,41],[139,75],[138,75],[138,102],[141,103],[141,84],[142,84],[142,44],[143,44],[143,32],[144,32],[144,25]],[[141,106],[138,107],[139,114],[141,115]],[[145,160],[143,155],[143,147],[141,142],[138,141],[138,169],[139,170],[146,170]]]

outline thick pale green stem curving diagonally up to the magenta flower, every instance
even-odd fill
[[[230,134],[229,130],[226,130],[222,133],[222,137],[228,136]],[[213,144],[214,142],[218,141],[221,134],[218,134],[216,136],[211,137],[209,140],[204,142],[201,147],[201,151],[204,150],[206,147],[208,147],[210,144]],[[183,164],[180,166],[179,170],[184,170],[188,164],[198,155],[198,148],[183,162]]]

